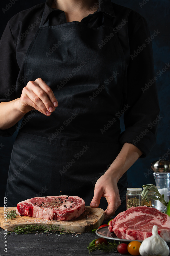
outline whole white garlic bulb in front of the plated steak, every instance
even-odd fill
[[[159,236],[157,226],[153,226],[152,236],[143,240],[139,248],[139,253],[142,256],[148,256],[148,255],[168,256],[169,255],[169,247],[167,243],[163,240],[163,238]]]

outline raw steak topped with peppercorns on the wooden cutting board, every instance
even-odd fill
[[[17,214],[49,220],[74,220],[85,211],[78,196],[34,197],[17,204]]]

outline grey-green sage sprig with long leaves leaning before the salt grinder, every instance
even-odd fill
[[[141,194],[141,196],[142,196],[142,201],[143,201],[143,199],[145,198],[146,201],[149,203],[148,193],[149,193],[150,191],[153,191],[154,194],[155,194],[155,196],[149,196],[149,198],[154,199],[154,200],[159,200],[163,205],[165,205],[165,206],[167,207],[168,203],[167,203],[167,202],[165,201],[165,199],[164,199],[164,194],[161,195],[161,194],[159,193],[157,187],[155,187],[155,185],[153,185],[153,184],[148,184],[148,185],[143,185],[142,187],[144,188],[143,191],[142,191],[142,194]],[[158,197],[156,197],[156,196],[158,196]]]

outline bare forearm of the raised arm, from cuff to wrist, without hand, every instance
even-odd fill
[[[25,115],[19,110],[18,107],[19,99],[0,103],[0,129],[5,130],[16,123]]]

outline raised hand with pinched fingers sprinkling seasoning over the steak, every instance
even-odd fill
[[[23,88],[18,104],[22,113],[36,109],[50,116],[58,106],[58,101],[49,86],[41,78],[37,78],[35,81],[29,81]]]

